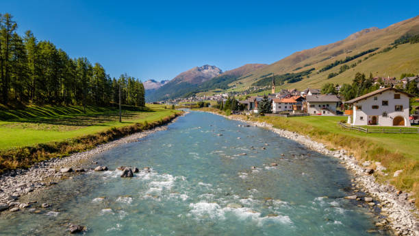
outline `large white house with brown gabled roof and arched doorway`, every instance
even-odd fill
[[[348,123],[353,126],[410,126],[409,93],[381,88],[345,102],[353,105]]]

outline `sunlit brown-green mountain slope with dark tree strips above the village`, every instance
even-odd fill
[[[357,72],[396,78],[399,78],[401,73],[417,74],[419,44],[403,43],[395,47],[394,42],[404,36],[418,34],[419,16],[384,29],[370,27],[329,45],[297,51],[282,60],[243,75],[229,84],[229,87],[236,86],[236,91],[244,91],[252,84],[266,84],[262,80],[270,76],[266,81],[272,81],[272,73],[284,78],[281,80],[281,88],[298,89],[320,88],[327,82],[351,83]]]

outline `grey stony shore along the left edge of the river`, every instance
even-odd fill
[[[177,118],[173,119],[175,122]],[[40,191],[51,185],[56,185],[59,180],[71,178],[71,174],[80,174],[86,171],[84,167],[92,166],[97,163],[92,163],[89,158],[110,150],[113,147],[123,143],[130,143],[138,141],[149,134],[166,130],[167,125],[159,126],[151,130],[144,130],[131,134],[127,137],[111,141],[94,147],[92,150],[86,152],[79,152],[66,156],[64,158],[53,158],[47,161],[36,163],[29,169],[15,169],[5,172],[0,175],[0,213],[2,211],[14,212],[20,211],[31,205],[36,204],[38,207],[46,208],[46,203],[31,202],[31,200],[20,200],[25,198],[27,193],[33,191]]]

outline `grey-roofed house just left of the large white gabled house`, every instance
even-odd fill
[[[338,102],[336,95],[307,95],[305,109],[309,115],[336,115]]]

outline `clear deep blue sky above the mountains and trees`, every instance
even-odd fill
[[[419,1],[19,1],[0,12],[107,73],[172,79],[203,64],[272,63],[419,14]]]

